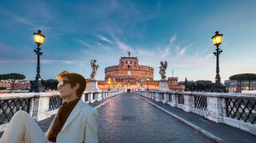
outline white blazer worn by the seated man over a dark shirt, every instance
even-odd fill
[[[56,142],[98,142],[98,111],[79,100],[57,134]]]

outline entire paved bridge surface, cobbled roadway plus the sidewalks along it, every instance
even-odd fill
[[[111,101],[108,102],[109,100]],[[102,104],[104,105],[102,106]],[[207,136],[215,136],[221,142],[256,141],[256,136],[240,129],[222,123],[214,123],[200,115],[183,112],[179,108],[173,108],[133,93],[107,98],[100,102],[94,102],[90,106],[94,108],[101,106],[97,107],[100,142],[214,142],[205,137],[201,130],[207,131],[210,133]],[[199,129],[189,127],[183,121],[156,108],[157,106],[196,125]],[[48,130],[53,117],[54,115],[38,122],[44,132]]]

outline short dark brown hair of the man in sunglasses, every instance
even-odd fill
[[[57,81],[60,81],[62,77],[67,77],[67,79],[69,79],[72,89],[73,87],[75,87],[76,83],[79,83],[79,89],[77,89],[77,96],[80,98],[86,87],[86,80],[84,79],[84,77],[78,73],[62,71],[56,76]]]

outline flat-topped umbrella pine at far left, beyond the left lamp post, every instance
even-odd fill
[[[11,90],[15,89],[16,81],[17,80],[23,80],[26,78],[25,75],[20,74],[20,73],[8,73],[8,74],[3,74],[5,79],[11,83]]]

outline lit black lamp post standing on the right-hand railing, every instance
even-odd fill
[[[226,92],[226,88],[220,83],[220,68],[219,68],[219,62],[218,57],[220,56],[220,53],[222,50],[218,48],[218,46],[221,44],[223,34],[219,34],[218,31],[215,32],[215,35],[212,36],[212,43],[216,45],[216,52],[213,52],[213,54],[216,56],[216,77],[215,77],[215,85],[212,87],[210,91],[212,92]]]

